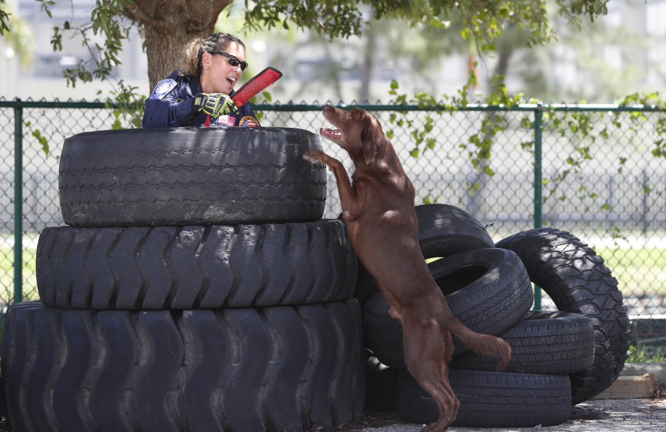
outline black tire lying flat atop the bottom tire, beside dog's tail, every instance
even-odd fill
[[[498,337],[511,345],[511,360],[502,372],[566,375],[587,369],[595,360],[592,320],[577,313],[530,310]],[[497,359],[468,351],[454,357],[450,366],[495,371]]]

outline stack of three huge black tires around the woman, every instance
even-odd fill
[[[364,407],[357,259],[323,220],[321,149],[291,128],[65,140],[40,301],[2,351],[24,431],[302,431]]]

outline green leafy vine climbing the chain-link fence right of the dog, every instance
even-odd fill
[[[495,76],[494,80],[493,88],[495,88],[495,91],[491,92],[488,97],[486,97],[484,104],[499,108],[499,112],[495,111],[495,114],[493,115],[484,116],[477,132],[472,133],[467,142],[459,143],[460,148],[469,150],[468,160],[472,167],[487,176],[493,176],[495,174],[493,169],[490,168],[490,158],[492,155],[494,138],[497,133],[504,131],[506,126],[508,126],[508,121],[501,115],[502,110],[511,110],[511,108],[527,103],[522,94],[509,95],[506,92],[504,77]],[[429,135],[429,132],[432,130],[432,124],[434,123],[432,113],[442,115],[443,113],[452,113],[453,111],[466,108],[469,99],[468,90],[474,85],[475,76],[470,72],[468,83],[459,90],[458,94],[452,97],[444,95],[443,101],[436,101],[432,95],[424,93],[415,94],[411,98],[409,98],[407,94],[398,94],[398,83],[396,81],[391,83],[390,94],[394,96],[391,103],[396,105],[407,103],[418,104],[418,106],[423,108],[426,113],[423,116],[422,124],[414,124],[413,121],[406,122],[404,119],[398,118],[397,114],[393,114],[389,118],[391,124],[400,128],[411,129],[409,135],[413,138],[414,144],[414,148],[410,152],[411,156],[416,158],[424,154],[428,149],[434,149],[436,147],[436,138]],[[647,121],[647,118],[642,111],[631,110],[631,106],[647,106],[662,111],[662,114],[656,122],[656,136],[654,137],[654,148],[651,153],[658,158],[666,157],[666,114],[663,113],[666,109],[666,102],[659,99],[658,94],[656,93],[630,94],[618,103],[623,109],[613,110],[612,114],[604,113],[604,111],[587,113],[578,110],[557,110],[552,104],[545,105],[535,102],[536,101],[530,101],[533,109],[539,110],[542,113],[540,127],[544,130],[549,130],[552,133],[558,133],[561,136],[570,137],[570,142],[573,144],[570,149],[563,149],[563,151],[568,152],[567,158],[565,159],[566,166],[556,175],[552,176],[552,178],[543,178],[543,185],[545,186],[546,191],[543,197],[544,203],[549,199],[557,199],[558,201],[578,199],[583,213],[591,210],[592,205],[598,206],[602,210],[610,210],[608,203],[599,202],[598,191],[583,183],[583,172],[586,169],[586,163],[589,160],[592,160],[594,156],[590,152],[591,145],[599,138],[607,140],[611,133],[608,127],[603,129],[597,127],[599,120],[603,119],[605,115],[613,115],[613,120],[610,124],[618,131],[622,130],[622,128],[626,128],[629,132],[635,133],[638,126],[640,126],[642,122]],[[535,128],[533,112],[534,111],[527,111],[529,114],[522,117],[520,120],[520,126],[522,128],[528,130],[533,130]],[[404,114],[405,112],[403,111],[402,115]],[[628,127],[626,127],[626,125],[620,120],[621,116],[622,118],[629,119]],[[393,130],[389,129],[386,135],[388,138],[392,138]],[[530,140],[528,142],[523,142],[521,146],[522,149],[533,153],[533,144],[534,142]],[[628,158],[621,156],[619,160],[617,160],[618,172],[622,172],[627,159]],[[576,178],[581,185],[574,197],[567,197],[566,194],[560,193],[559,189],[567,178],[572,176]],[[472,183],[468,185],[468,192],[473,196],[479,188],[480,186],[478,183]],[[651,188],[649,184],[640,185],[640,188],[642,193],[646,195],[653,193],[653,188]],[[432,191],[429,192],[432,193]],[[428,200],[432,201],[430,194],[428,195]],[[622,238],[622,235],[615,230],[613,232],[613,237]]]

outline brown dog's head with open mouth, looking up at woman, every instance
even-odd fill
[[[352,159],[363,158],[366,165],[375,160],[377,146],[385,138],[382,125],[368,111],[354,108],[350,111],[333,106],[324,107],[324,117],[336,129],[321,128],[319,133],[324,138],[335,142],[345,149]]]

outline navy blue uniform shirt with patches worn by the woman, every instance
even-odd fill
[[[172,126],[203,126],[207,115],[194,110],[194,96],[203,93],[196,75],[185,75],[176,70],[155,85],[151,97],[146,100],[146,110],[141,126],[167,128]],[[233,96],[231,92],[230,96]],[[221,115],[210,118],[210,126],[259,126],[255,110],[250,103],[238,108],[238,115]]]

